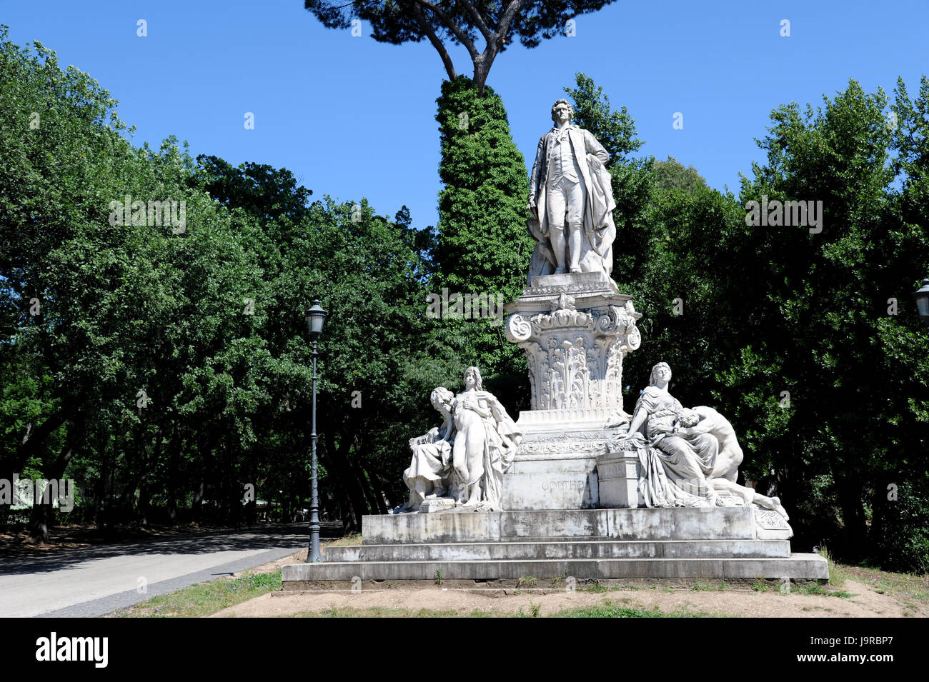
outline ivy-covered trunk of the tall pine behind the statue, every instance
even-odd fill
[[[526,230],[529,178],[503,100],[490,87],[478,93],[471,79],[459,76],[442,84],[437,102],[445,185],[438,195],[437,293],[444,287],[450,296],[512,301],[525,284],[532,243]],[[466,337],[474,362],[504,393],[501,399],[528,405],[522,352],[504,339],[499,319],[471,317],[445,317],[442,324]]]

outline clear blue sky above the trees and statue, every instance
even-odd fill
[[[137,19],[148,37],[137,37]],[[436,223],[445,71],[425,42],[324,29],[302,0],[6,0],[0,23],[14,42],[39,40],[109,89],[137,145],[177,135],[194,155],[289,168],[314,198],[364,196],[390,216],[406,204],[413,225]],[[621,1],[577,19],[576,33],[515,45],[491,69],[527,163],[552,102],[583,71],[629,109],[642,153],[693,164],[720,189],[738,190],[739,172],[751,173],[761,158],[753,138],[779,104],[817,105],[849,78],[890,94],[898,75],[912,96],[929,72],[925,0]],[[470,75],[464,49],[453,55]],[[242,125],[246,111],[255,130]],[[675,111],[683,130],[672,127]]]

